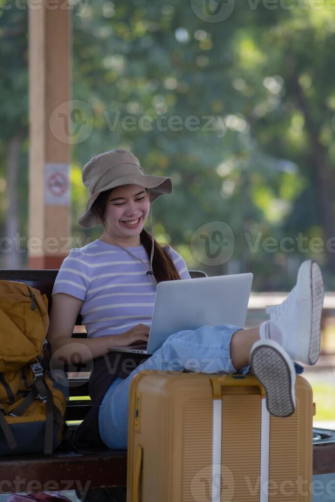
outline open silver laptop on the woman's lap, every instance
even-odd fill
[[[253,274],[159,282],[148,343],[112,347],[116,352],[153,354],[173,333],[204,325],[244,327]]]

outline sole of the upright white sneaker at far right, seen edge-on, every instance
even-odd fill
[[[310,268],[312,318],[310,325],[309,364],[315,364],[319,359],[321,343],[321,314],[323,307],[324,288],[319,265],[312,261]]]

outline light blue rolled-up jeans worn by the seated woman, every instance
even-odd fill
[[[126,378],[116,379],[99,409],[102,441],[114,449],[127,449],[129,387],[141,370],[236,373],[230,353],[233,334],[242,329],[231,324],[201,326],[172,334],[145,362]]]

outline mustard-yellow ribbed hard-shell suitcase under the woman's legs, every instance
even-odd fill
[[[214,488],[212,497],[212,382],[222,389],[220,497]],[[260,389],[264,396],[252,375],[138,373],[130,387],[127,502],[311,502],[311,387],[297,376],[295,413],[270,415],[265,485]]]

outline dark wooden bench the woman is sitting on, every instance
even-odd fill
[[[0,270],[0,279],[25,282],[45,293],[51,307],[51,292],[58,270]],[[190,271],[191,277],[204,277],[201,271]],[[82,338],[85,330],[78,316],[73,337]],[[88,410],[89,365],[70,372],[70,401],[66,421],[76,427]],[[322,431],[321,432],[322,435]],[[324,431],[327,436],[327,431]],[[318,438],[313,445],[313,474],[335,472],[335,434]],[[127,485],[127,451],[74,451],[67,442],[52,455],[17,455],[0,457],[0,494],[30,491],[77,490],[123,487]]]

